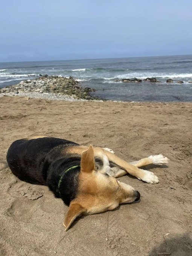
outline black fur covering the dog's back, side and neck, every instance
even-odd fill
[[[7,162],[12,173],[20,180],[48,186],[55,197],[61,198],[69,206],[78,194],[81,165],[81,155],[68,153],[71,146],[79,145],[53,137],[20,139],[9,147]],[[100,158],[96,157],[95,161],[97,168],[103,165]],[[77,165],[77,168],[67,171]]]

